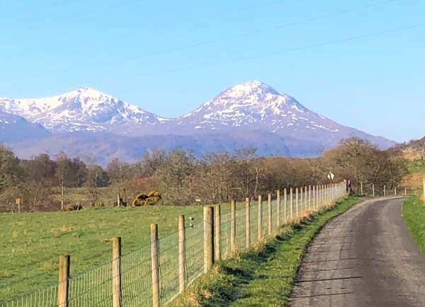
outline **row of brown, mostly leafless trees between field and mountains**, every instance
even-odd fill
[[[227,202],[282,187],[324,183],[329,171],[336,175],[334,180],[351,180],[353,186],[362,181],[394,187],[407,172],[407,162],[396,149],[380,151],[356,138],[319,158],[259,157],[256,149],[196,158],[189,151],[153,149],[137,163],[115,159],[106,168],[65,154],[19,160],[0,146],[0,204],[10,208],[15,197],[23,196],[32,209],[58,209],[75,188],[84,191],[84,200],[77,200],[85,206],[112,205],[117,192],[130,203],[150,190],[161,193],[163,204]]]

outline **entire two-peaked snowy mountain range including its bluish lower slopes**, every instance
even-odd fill
[[[115,157],[133,161],[152,147],[191,149],[200,155],[251,146],[261,155],[309,157],[347,137],[367,139],[381,149],[395,144],[338,124],[260,81],[227,88],[178,118],[160,117],[86,87],[52,98],[0,98],[0,110],[52,133],[41,140],[8,141],[20,156],[65,151],[106,163]]]

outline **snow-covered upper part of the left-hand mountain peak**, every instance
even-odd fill
[[[0,98],[0,110],[40,123],[55,133],[126,133],[164,120],[135,105],[88,87],[51,98]]]

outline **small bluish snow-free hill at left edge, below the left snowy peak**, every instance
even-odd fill
[[[0,143],[34,141],[49,135],[40,124],[33,124],[23,117],[0,111]]]

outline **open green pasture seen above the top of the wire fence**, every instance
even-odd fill
[[[149,244],[149,225],[159,236],[175,233],[179,214],[202,224],[202,207],[127,207],[79,212],[0,215],[0,303],[57,284],[59,255],[72,256],[72,273],[111,260],[109,238],[123,238],[123,253]]]

